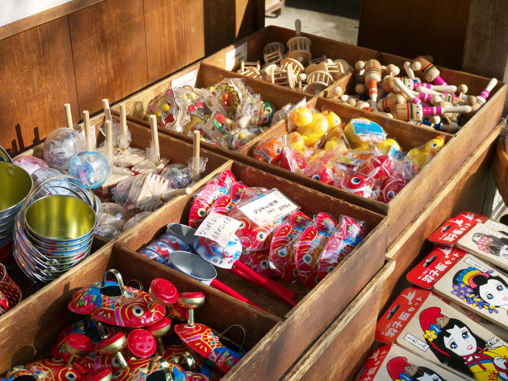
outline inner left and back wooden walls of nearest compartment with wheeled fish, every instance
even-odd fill
[[[152,261],[144,260],[139,254],[110,243],[0,318],[0,373],[12,366],[27,364],[34,356],[51,357],[50,350],[58,332],[82,318],[68,309],[72,294],[100,281],[104,271],[111,268],[121,273],[124,282],[135,279],[147,286],[154,278],[164,278],[180,292],[202,289],[199,282],[168,267],[153,266]],[[214,289],[206,290],[205,305],[196,312],[196,317],[219,332],[241,323],[247,332],[248,348],[281,323],[281,319]],[[231,336],[235,337],[233,331]],[[240,337],[239,341],[242,339]]]

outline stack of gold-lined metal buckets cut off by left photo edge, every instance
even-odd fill
[[[12,241],[14,220],[31,188],[26,170],[0,161],[0,248]]]

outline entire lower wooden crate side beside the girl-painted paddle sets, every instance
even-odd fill
[[[427,237],[462,211],[481,213],[499,124],[388,248],[386,264],[282,378],[354,379],[374,345],[378,316],[405,285],[405,274],[429,252]]]

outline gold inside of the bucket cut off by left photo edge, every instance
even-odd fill
[[[15,164],[0,161],[0,218],[11,215],[32,187],[28,172]]]

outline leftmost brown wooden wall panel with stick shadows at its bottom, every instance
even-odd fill
[[[0,145],[15,154],[78,118],[67,17],[0,41]]]

